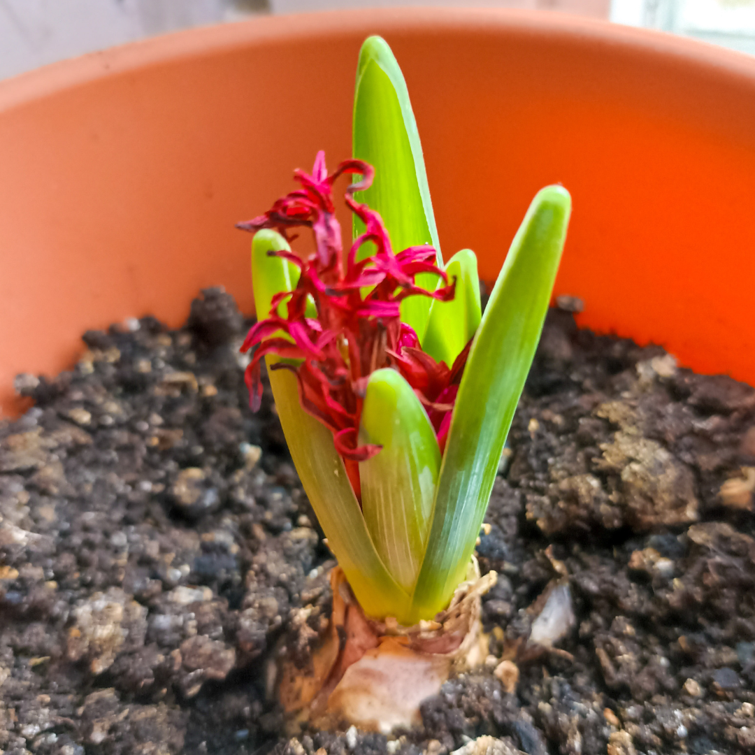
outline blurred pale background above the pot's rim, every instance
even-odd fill
[[[258,14],[388,5],[538,8],[755,53],[755,0],[0,0],[0,79],[151,35]]]

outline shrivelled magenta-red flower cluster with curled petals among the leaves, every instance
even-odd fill
[[[362,175],[359,183],[347,188],[345,201],[366,228],[351,246],[345,267],[341,227],[333,202],[333,184],[343,174]],[[353,198],[354,192],[370,186],[373,175],[371,165],[359,160],[342,162],[328,174],[325,153],[319,152],[311,175],[294,173],[301,185],[299,190],[279,199],[265,214],[239,223],[240,228],[252,232],[274,229],[286,239],[292,228],[313,230],[316,251],[306,260],[288,251],[270,253],[294,263],[300,269],[300,278],[294,291],[273,297],[267,319],[260,319],[249,331],[242,352],[255,345],[257,350],[246,369],[245,381],[251,408],[256,411],[262,396],[260,359],[276,354],[297,360],[297,365],[277,362],[273,369],[296,373],[301,405],[333,433],[335,448],[344,459],[357,498],[359,461],[371,458],[381,448],[357,445],[370,374],[393,367],[405,377],[427,409],[442,451],[469,351],[467,345],[449,368],[424,353],[417,334],[401,322],[399,304],[405,297],[449,300],[454,297],[455,282],[449,283],[446,273],[439,270],[431,246],[414,246],[393,254],[380,215]],[[358,260],[359,250],[368,242],[374,245],[374,254]],[[414,283],[419,273],[435,273],[445,285],[425,291]],[[315,318],[307,316],[311,301]],[[282,303],[285,317],[278,313]]]

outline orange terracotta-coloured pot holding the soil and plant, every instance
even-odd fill
[[[251,310],[236,220],[316,149],[350,153],[370,33],[408,80],[446,257],[492,278],[534,196],[572,192],[556,293],[584,325],[755,383],[755,60],[538,13],[405,9],[182,32],[0,84],[0,398],[85,328],[177,325],[201,286]]]

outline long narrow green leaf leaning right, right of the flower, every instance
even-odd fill
[[[412,618],[431,618],[464,579],[498,461],[540,340],[572,200],[547,186],[532,201],[495,283],[464,368],[445,446]]]

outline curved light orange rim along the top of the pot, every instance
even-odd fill
[[[547,34],[578,35],[605,45],[622,45],[644,54],[670,55],[695,66],[726,69],[753,82],[755,57],[698,39],[624,26],[606,20],[557,11],[524,8],[449,8],[432,5],[408,8],[360,8],[344,11],[262,16],[254,20],[200,26],[102,51],[66,58],[0,81],[0,112],[120,72],[136,71],[165,60],[180,60],[212,51],[243,47],[250,42],[275,43],[313,35],[361,30],[371,21],[394,31],[412,28],[447,29],[455,26],[488,32],[495,26]],[[755,82],[753,82],[755,83]]]

